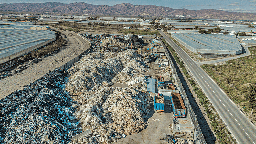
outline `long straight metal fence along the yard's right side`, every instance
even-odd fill
[[[169,64],[170,64],[170,67],[171,67],[171,70],[172,70],[172,75],[173,75],[173,78],[174,78],[174,84],[176,85],[177,89],[180,91],[180,95],[181,97],[183,98],[184,102],[185,102],[185,105],[186,105],[186,108],[187,108],[187,118],[189,118],[191,121],[192,121],[192,126],[193,128],[195,129],[195,133],[194,135],[196,135],[196,137],[194,137],[193,140],[197,139],[198,138],[198,142],[199,144],[207,144],[205,139],[204,139],[204,136],[203,136],[203,133],[200,129],[200,126],[197,122],[197,116],[195,115],[190,103],[189,103],[189,100],[187,98],[187,95],[186,95],[186,92],[182,86],[182,83],[179,79],[179,76],[176,72],[176,69],[174,67],[174,64],[171,60],[171,57],[170,57],[170,54],[166,48],[166,46],[164,45],[163,41],[160,40],[162,46],[164,46],[164,49],[165,49],[165,52],[166,52],[166,57],[169,61]]]

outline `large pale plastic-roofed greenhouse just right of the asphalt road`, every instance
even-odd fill
[[[242,46],[232,35],[173,33],[172,37],[190,51],[199,53],[205,58],[242,53]]]

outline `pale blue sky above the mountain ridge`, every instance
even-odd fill
[[[60,2],[60,3],[74,3],[74,2],[85,2],[94,5],[116,5],[120,3],[131,3],[137,5],[157,5],[165,6],[176,9],[189,9],[189,10],[200,10],[200,9],[217,9],[229,12],[249,12],[256,13],[256,0],[244,1],[244,0],[0,0],[1,3],[44,3],[44,2]]]

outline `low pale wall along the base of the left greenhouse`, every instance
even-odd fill
[[[16,57],[25,55],[25,54],[27,54],[27,53],[29,53],[29,52],[31,52],[31,51],[33,51],[33,50],[39,48],[39,47],[42,47],[42,46],[47,45],[48,43],[51,43],[51,42],[53,42],[53,41],[55,41],[55,40],[56,40],[56,37],[54,37],[54,38],[52,38],[52,39],[50,39],[50,40],[48,40],[48,41],[45,41],[45,42],[43,42],[43,43],[37,44],[37,45],[35,45],[35,46],[31,46],[31,47],[29,47],[29,48],[27,48],[27,49],[25,49],[25,50],[22,50],[22,51],[20,51],[20,52],[15,53],[15,54],[9,55],[9,56],[7,56],[7,57],[0,58],[0,63],[2,64],[2,63],[5,63],[5,62],[7,62],[7,61],[9,61],[9,60],[15,59]]]

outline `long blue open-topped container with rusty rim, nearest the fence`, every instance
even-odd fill
[[[172,102],[172,108],[173,108],[173,116],[175,118],[186,117],[186,108],[184,106],[183,100],[179,93],[171,93],[171,102]]]

